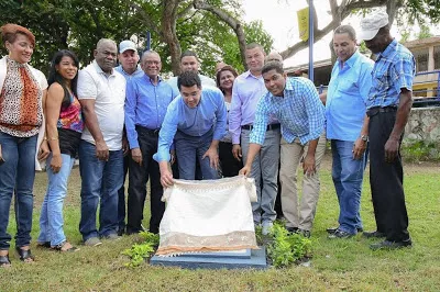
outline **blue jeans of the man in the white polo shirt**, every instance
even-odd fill
[[[109,160],[96,157],[94,144],[79,144],[79,172],[81,175],[81,220],[79,232],[86,242],[91,237],[118,232],[118,190],[123,181],[123,153],[110,151]],[[99,204],[99,232],[96,215]]]

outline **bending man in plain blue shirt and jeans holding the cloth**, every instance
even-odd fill
[[[165,188],[173,184],[168,164],[173,141],[180,179],[195,179],[196,159],[200,164],[202,179],[218,179],[218,146],[227,126],[227,110],[219,89],[202,88],[195,71],[183,72],[177,79],[177,87],[180,96],[168,105],[157,153],[153,156],[160,165],[161,183]]]

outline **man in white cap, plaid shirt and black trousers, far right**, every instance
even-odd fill
[[[371,249],[411,246],[403,187],[400,142],[413,105],[416,74],[413,54],[389,34],[388,15],[369,14],[361,21],[360,38],[377,56],[369,93],[370,183],[376,231],[366,237],[384,237]]]

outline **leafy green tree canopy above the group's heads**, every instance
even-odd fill
[[[433,0],[328,0],[332,20],[318,29],[315,18],[315,42],[331,33],[350,14],[386,7],[391,23],[427,25],[440,19]],[[316,1],[315,1],[316,2]],[[117,43],[131,38],[141,46],[146,32],[152,35],[152,49],[163,58],[163,71],[179,72],[179,56],[193,49],[202,61],[205,74],[213,75],[215,64],[223,60],[240,71],[245,69],[244,46],[250,42],[272,49],[272,36],[262,22],[242,20],[241,0],[3,0],[0,23],[18,23],[36,36],[32,64],[47,71],[53,54],[73,49],[81,65],[92,59],[101,37]],[[284,58],[308,47],[298,42],[280,52]],[[1,53],[6,53],[1,48]]]

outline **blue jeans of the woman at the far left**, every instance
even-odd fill
[[[6,250],[11,242],[7,229],[14,193],[15,246],[29,246],[31,243],[36,135],[19,138],[0,132],[0,145],[4,159],[4,164],[0,165],[0,250]]]

